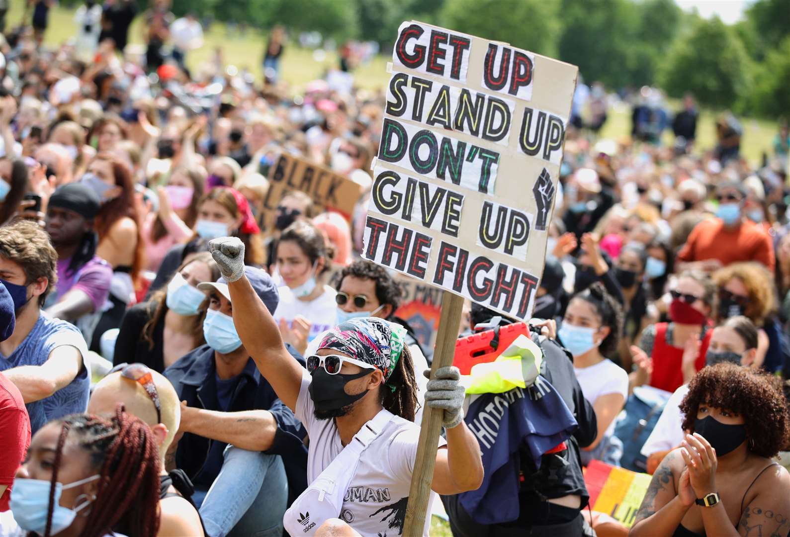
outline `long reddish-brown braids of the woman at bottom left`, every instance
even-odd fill
[[[90,414],[73,414],[62,424],[50,482],[49,510],[44,537],[52,531],[55,484],[62,460],[63,445],[70,434],[91,456],[99,471],[96,500],[88,515],[82,537],[102,537],[113,529],[127,535],[154,537],[159,530],[159,451],[151,429],[141,419],[127,414],[123,405],[111,419]]]

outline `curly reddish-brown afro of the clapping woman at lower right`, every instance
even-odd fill
[[[689,383],[680,403],[683,430],[694,432],[701,404],[726,409],[743,416],[747,449],[758,456],[772,457],[788,445],[788,404],[780,381],[769,374],[718,363],[700,370]]]

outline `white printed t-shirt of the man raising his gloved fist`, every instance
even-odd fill
[[[307,483],[313,483],[343,450],[335,421],[316,419],[313,413],[314,404],[307,391],[310,378],[306,371],[302,377],[302,388],[299,389],[295,412],[310,437]],[[340,520],[344,520],[359,535],[401,535],[418,440],[419,426],[394,416],[381,434],[363,451],[345,492],[343,509],[338,515]],[[446,441],[439,437],[439,445],[445,444]],[[435,498],[436,494],[431,492],[428,505]],[[429,514],[426,516],[423,535],[428,535],[430,525]]]

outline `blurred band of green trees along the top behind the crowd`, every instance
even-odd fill
[[[292,36],[371,40],[385,55],[401,22],[423,21],[574,63],[587,83],[663,84],[711,107],[788,113],[790,0],[756,0],[731,26],[674,0],[172,0],[172,10],[253,28],[283,24]]]

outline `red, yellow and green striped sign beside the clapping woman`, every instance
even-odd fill
[[[615,468],[600,460],[590,462],[585,471],[585,485],[592,509],[608,514],[627,528],[634,525],[650,479],[648,474]]]

